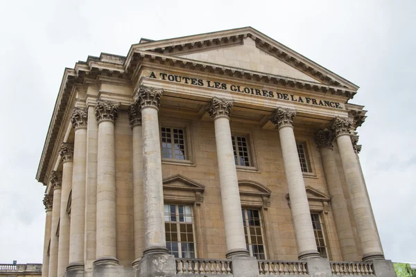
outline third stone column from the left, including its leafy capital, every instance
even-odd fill
[[[62,189],[59,224],[58,277],[62,277],[69,262],[69,225],[67,213],[69,193],[72,188],[73,143],[62,143],[59,151],[62,160]]]

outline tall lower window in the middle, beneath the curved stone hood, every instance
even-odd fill
[[[260,212],[243,208],[243,225],[245,234],[245,246],[250,252],[250,256],[257,257],[259,260],[266,259],[265,245],[263,242],[263,224]]]

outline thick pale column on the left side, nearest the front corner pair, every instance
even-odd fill
[[[94,265],[118,265],[116,258],[116,167],[114,123],[119,104],[98,100],[97,223]]]

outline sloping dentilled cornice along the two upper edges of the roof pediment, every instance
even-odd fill
[[[336,73],[325,69],[323,66],[309,60],[300,53],[297,53],[291,48],[280,44],[275,41],[275,39],[264,35],[252,27],[236,28],[233,30],[223,30],[214,33],[133,44],[125,60],[125,66],[126,68],[130,67],[130,62],[132,62],[133,56],[139,51],[174,55],[173,53],[193,51],[198,48],[203,50],[204,48],[210,48],[215,45],[229,46],[231,44],[236,44],[245,37],[251,37],[254,42],[256,42],[257,48],[260,48],[282,62],[293,66],[295,69],[306,73],[306,75],[315,78],[315,80],[319,80],[324,84],[334,87],[345,87],[355,91],[358,89],[356,84],[353,84]]]

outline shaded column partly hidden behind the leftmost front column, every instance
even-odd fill
[[[135,218],[135,260],[139,262],[144,250],[144,195],[143,195],[143,137],[141,112],[137,102],[130,105],[129,120],[133,133],[133,206]]]

